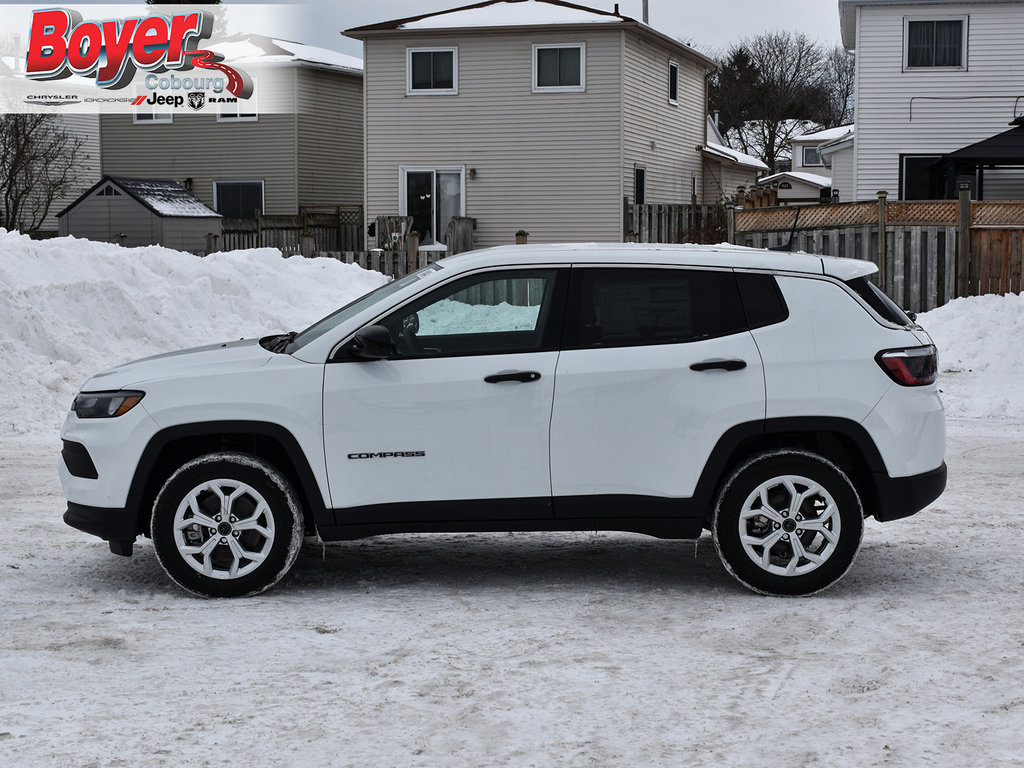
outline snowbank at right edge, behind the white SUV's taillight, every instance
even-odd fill
[[[950,416],[1024,418],[1024,293],[954,299],[918,322],[939,348]]]

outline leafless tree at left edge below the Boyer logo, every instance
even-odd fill
[[[73,190],[81,148],[55,115],[0,115],[0,226],[38,231]]]

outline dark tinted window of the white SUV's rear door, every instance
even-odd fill
[[[678,344],[745,329],[732,272],[580,267],[570,295],[564,347]]]

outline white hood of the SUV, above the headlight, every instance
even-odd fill
[[[82,391],[128,389],[156,379],[255,370],[265,366],[272,357],[273,352],[261,347],[258,339],[208,344],[143,357],[112,368],[89,379],[82,386]]]

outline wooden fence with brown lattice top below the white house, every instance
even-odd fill
[[[794,251],[873,262],[886,293],[914,312],[957,296],[1024,290],[1024,202],[889,203],[880,197],[737,210],[730,219],[730,240],[738,245],[781,248],[792,239]]]

